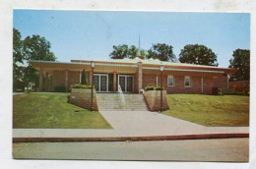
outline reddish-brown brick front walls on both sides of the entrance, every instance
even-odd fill
[[[82,73],[81,73],[82,74]],[[172,74],[169,74],[172,75]],[[190,76],[190,87],[184,86],[184,75],[173,75],[174,86],[167,86],[167,77],[168,75],[164,74],[162,76],[162,85],[166,89],[167,93],[202,93],[201,79],[202,76]],[[65,86],[65,71],[54,71],[52,77],[52,88],[55,86]],[[117,75],[116,75],[117,76]],[[160,74],[143,74],[139,73],[133,74],[134,81],[134,92],[138,93],[139,88],[145,88],[146,86],[157,86],[157,76],[158,76],[158,86],[160,86]],[[87,72],[88,83],[90,81],[90,72]],[[117,77],[116,77],[117,79]],[[117,81],[117,80],[116,80]],[[141,86],[139,82],[142,81]],[[80,83],[80,73],[79,71],[68,71],[68,89],[72,84]],[[203,93],[212,94],[213,87],[226,88],[226,78],[218,77],[213,78],[211,76],[203,76]]]

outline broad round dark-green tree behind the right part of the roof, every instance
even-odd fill
[[[212,49],[200,44],[187,44],[179,54],[181,63],[218,66],[217,55]]]

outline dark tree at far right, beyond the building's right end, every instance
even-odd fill
[[[230,77],[231,81],[249,81],[250,80],[250,50],[236,49],[233,51],[229,60],[229,68],[234,68],[237,72]]]

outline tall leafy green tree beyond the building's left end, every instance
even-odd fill
[[[39,35],[27,36],[22,40],[18,29],[13,28],[13,84],[14,89],[28,84],[38,86],[38,73],[32,68],[30,61],[55,61],[50,51],[50,42]],[[28,65],[27,67],[25,65]]]

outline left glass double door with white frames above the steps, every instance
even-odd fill
[[[96,91],[107,92],[108,91],[108,75],[105,74],[95,74],[94,84],[96,86]]]

